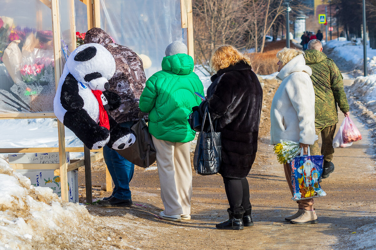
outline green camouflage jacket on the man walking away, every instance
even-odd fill
[[[322,128],[338,123],[337,103],[342,112],[349,111],[343,76],[334,61],[315,49],[305,51],[306,65],[312,69],[315,90],[315,127]]]

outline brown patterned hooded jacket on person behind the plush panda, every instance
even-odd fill
[[[121,98],[118,109],[110,111],[110,115],[118,123],[138,120],[139,98],[145,88],[146,76],[141,58],[126,46],[114,43],[111,37],[101,28],[92,28],[86,32],[86,43],[99,43],[111,52],[115,58],[115,74],[108,81],[110,91]],[[147,119],[147,115],[144,115]]]

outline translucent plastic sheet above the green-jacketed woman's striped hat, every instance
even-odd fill
[[[167,45],[186,43],[180,0],[101,0],[100,21],[115,43],[140,55],[147,78],[161,70]]]

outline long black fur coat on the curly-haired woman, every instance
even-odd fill
[[[246,177],[256,158],[262,88],[251,69],[241,61],[218,70],[211,77],[207,100],[200,104],[202,116],[208,106],[212,120],[217,120],[222,139],[219,173],[227,178]]]

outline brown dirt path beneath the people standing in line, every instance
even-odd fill
[[[266,82],[264,112],[270,108],[276,82]],[[268,94],[270,93],[270,94]],[[120,249],[376,249],[376,174],[371,159],[370,135],[367,128],[352,115],[364,139],[352,147],[335,150],[335,172],[321,183],[326,197],[315,200],[319,223],[292,225],[284,217],[296,210],[296,204],[285,181],[282,166],[277,163],[269,145],[267,132],[261,134],[256,162],[247,179],[250,184],[255,225],[242,231],[215,229],[227,219],[228,207],[220,175],[193,176],[192,220],[168,222],[158,219],[163,209],[156,170],[136,168],[131,184],[135,204],[129,208],[104,208],[88,205],[92,215],[118,234]],[[263,130],[267,129],[267,115]],[[340,123],[343,115],[339,114]],[[103,166],[93,171],[93,183],[103,182]],[[82,171],[80,182],[84,183]],[[80,193],[85,193],[80,190]],[[99,191],[96,192],[99,195]],[[99,196],[108,196],[101,192]],[[94,196],[97,197],[97,196]],[[363,227],[362,227],[363,226]],[[362,228],[361,228],[362,227]],[[353,233],[356,232],[356,233]],[[121,237],[121,238],[120,238]],[[96,249],[94,246],[91,249]]]

